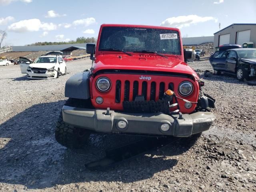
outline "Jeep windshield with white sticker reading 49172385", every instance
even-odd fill
[[[178,31],[166,29],[104,27],[100,36],[99,51],[108,49],[181,55]]]

